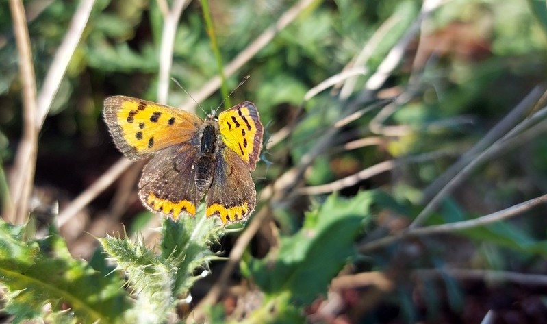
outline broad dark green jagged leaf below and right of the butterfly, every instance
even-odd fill
[[[279,250],[251,260],[249,271],[270,297],[290,292],[290,303],[311,303],[327,292],[331,279],[355,256],[353,243],[368,221],[374,192],[352,199],[331,195],[306,215],[303,228],[281,238]]]

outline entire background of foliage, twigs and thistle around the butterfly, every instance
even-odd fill
[[[538,0],[0,2],[1,320],[546,319],[546,40]],[[254,215],[144,210],[105,97],[245,75]]]

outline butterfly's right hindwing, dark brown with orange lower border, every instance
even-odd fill
[[[205,200],[207,217],[218,216],[224,224],[244,221],[255,210],[257,195],[249,166],[228,147],[217,155]]]

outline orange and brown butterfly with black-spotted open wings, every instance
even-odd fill
[[[264,129],[249,101],[202,120],[196,114],[138,98],[104,102],[114,144],[130,160],[155,153],[142,171],[139,197],[152,212],[177,220],[205,214],[223,224],[244,221],[256,206],[251,171],[262,149]]]

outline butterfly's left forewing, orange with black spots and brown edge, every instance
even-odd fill
[[[203,123],[190,112],[138,98],[108,97],[104,105],[116,147],[130,160],[187,142]]]

